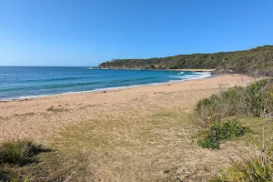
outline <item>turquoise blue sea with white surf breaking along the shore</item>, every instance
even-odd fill
[[[0,99],[142,86],[207,76],[210,74],[180,71],[0,66]]]

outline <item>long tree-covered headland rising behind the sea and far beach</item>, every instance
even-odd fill
[[[198,69],[273,76],[273,45],[214,54],[178,55],[148,59],[113,59],[99,68],[110,69]]]

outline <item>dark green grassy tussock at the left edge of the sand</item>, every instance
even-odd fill
[[[40,145],[26,140],[5,142],[0,147],[0,163],[25,165],[34,162],[35,155],[44,151]]]

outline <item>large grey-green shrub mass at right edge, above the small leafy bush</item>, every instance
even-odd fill
[[[208,128],[214,120],[228,116],[273,117],[273,79],[247,87],[235,86],[200,100],[194,120],[197,125]]]

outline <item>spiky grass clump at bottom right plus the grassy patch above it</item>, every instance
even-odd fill
[[[223,169],[211,181],[273,181],[273,123],[263,120],[242,120],[254,131],[254,135],[249,137],[250,148],[238,154],[239,160],[231,158],[232,166]]]

